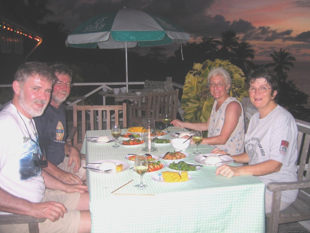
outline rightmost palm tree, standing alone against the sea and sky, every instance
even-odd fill
[[[280,51],[274,51],[271,53],[270,57],[272,57],[274,63],[269,63],[267,66],[275,66],[273,71],[277,73],[280,80],[285,80],[286,76],[284,73],[286,72],[283,70],[289,71],[289,66],[294,67],[293,61],[296,61],[295,57],[293,57],[289,51],[282,48],[280,48]]]

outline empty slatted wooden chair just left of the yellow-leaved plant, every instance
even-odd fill
[[[133,104],[128,106],[129,126],[132,126],[132,123],[142,125],[144,118],[154,118],[155,121],[162,121],[164,113],[169,113],[171,120],[175,120],[178,111],[178,97],[179,89],[166,92],[150,92],[147,107],[138,107]],[[141,111],[143,116],[138,116],[138,111]]]

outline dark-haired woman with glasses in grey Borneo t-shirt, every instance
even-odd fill
[[[216,169],[228,178],[254,175],[266,185],[269,182],[297,181],[297,126],[290,112],[279,106],[275,99],[279,91],[277,77],[261,67],[251,71],[247,85],[252,104],[258,109],[245,135],[246,152],[232,156],[237,163],[248,166],[222,165]],[[214,149],[212,153],[224,151]],[[298,190],[282,191],[280,210],[288,207],[297,197]],[[272,193],[265,190],[265,211],[271,212]]]

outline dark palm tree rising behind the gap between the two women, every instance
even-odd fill
[[[248,42],[241,42],[238,44],[237,48],[232,48],[232,52],[235,54],[235,61],[233,62],[237,65],[243,72],[246,71],[246,66],[251,67],[253,66],[253,62],[246,60],[246,58],[254,58],[254,49],[251,48],[252,46]]]

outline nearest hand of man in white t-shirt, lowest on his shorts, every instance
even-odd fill
[[[55,222],[60,217],[64,217],[64,213],[67,212],[66,207],[59,202],[48,201],[41,203],[32,203],[31,216],[36,218],[48,218]]]

